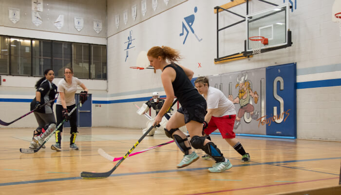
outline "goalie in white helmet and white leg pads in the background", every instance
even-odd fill
[[[162,108],[162,105],[164,104],[165,100],[164,99],[160,99],[160,94],[158,92],[153,92],[152,93],[152,99],[147,101],[146,103],[144,103],[140,109],[137,110],[137,114],[139,115],[143,115],[144,113],[148,112],[149,109],[152,107],[155,111],[156,111],[156,115],[159,113],[160,109]],[[170,109],[170,111],[172,111],[173,109]],[[167,113],[167,115],[165,115],[162,118],[162,121],[160,122],[160,124],[158,125],[158,127],[155,127],[152,129],[152,131],[150,131],[148,133],[147,136],[153,136],[154,134],[165,134],[164,128],[166,127],[166,124],[168,122],[168,120],[171,117],[171,113]],[[146,131],[153,125],[154,120],[149,120],[146,123],[146,128],[142,130],[142,133],[146,133]],[[187,133],[187,129],[182,128],[180,129],[181,131]]]

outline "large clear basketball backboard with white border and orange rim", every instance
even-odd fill
[[[246,51],[287,45],[289,29],[289,5],[283,4],[246,15]],[[250,37],[264,37],[267,44],[252,41]],[[259,42],[256,43],[255,42]]]

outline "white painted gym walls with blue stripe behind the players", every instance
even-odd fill
[[[269,0],[283,4],[283,0]],[[134,98],[151,97],[152,91],[162,91],[160,71],[135,70],[136,57],[141,50],[148,51],[152,46],[170,46],[180,51],[183,59],[180,64],[192,69],[194,77],[214,74],[244,71],[254,68],[267,67],[291,62],[297,62],[297,82],[341,78],[341,37],[339,24],[332,22],[331,10],[333,0],[297,0],[297,7],[289,11],[289,28],[292,32],[291,47],[254,55],[250,60],[242,59],[215,65],[216,58],[216,14],[215,6],[223,5],[229,0],[170,0],[166,6],[163,0],[158,0],[158,6],[152,9],[152,0],[147,0],[145,17],[141,14],[141,0],[100,0],[100,1],[48,1],[44,4],[58,4],[54,9],[66,12],[71,19],[64,24],[65,32],[57,31],[54,26],[46,24],[38,28],[29,19],[14,25],[8,20],[8,7],[20,8],[21,17],[24,10],[30,13],[30,3],[25,0],[5,0],[0,2],[0,34],[49,39],[75,41],[84,43],[106,44],[108,46],[108,83],[103,80],[82,79],[93,95],[93,100],[106,103],[93,105],[93,126],[111,126],[122,128],[145,128],[146,118],[138,116],[132,100]],[[71,3],[74,2],[74,3]],[[77,3],[75,3],[77,2]],[[285,0],[287,3],[288,0]],[[136,19],[132,19],[132,6],[137,5]],[[17,6],[18,5],[18,6]],[[20,7],[19,7],[20,5]],[[81,5],[81,7],[80,7]],[[250,0],[249,13],[270,8],[264,2]],[[197,12],[194,13],[194,8]],[[44,7],[45,9],[45,7]],[[52,9],[52,8],[51,8]],[[123,12],[128,10],[128,21],[124,24]],[[231,8],[241,15],[246,13],[246,3]],[[76,13],[75,13],[76,12]],[[104,14],[104,16],[103,16]],[[190,32],[185,44],[182,32],[184,18],[194,14],[192,25],[198,41]],[[89,20],[103,20],[105,34],[97,35],[90,22],[84,31],[77,32],[73,27],[73,17],[82,15]],[[89,16],[90,15],[90,16]],[[115,16],[119,15],[120,24],[116,28]],[[222,15],[221,25],[227,23],[230,15]],[[96,18],[95,18],[96,17]],[[106,18],[107,17],[107,25]],[[55,17],[56,18],[56,17]],[[233,16],[231,18],[234,18]],[[51,19],[52,20],[52,19]],[[53,19],[54,21],[55,19]],[[239,20],[239,19],[238,19]],[[31,23],[30,23],[31,22]],[[12,23],[12,24],[11,24]],[[30,23],[30,25],[28,25]],[[222,26],[220,26],[222,27]],[[234,27],[232,27],[234,28]],[[237,42],[239,36],[245,37],[245,22],[233,29],[233,34],[222,33],[220,52],[231,54],[244,50],[244,43]],[[93,32],[92,32],[93,31]],[[5,33],[3,33],[5,32]],[[132,32],[131,49],[127,43]],[[185,32],[186,33],[186,32]],[[18,35],[19,34],[19,35]],[[77,40],[79,39],[79,40]],[[232,48],[232,49],[231,49]],[[198,67],[198,63],[201,67]],[[34,97],[34,83],[38,78],[3,76],[6,82],[1,82],[0,98],[23,96]],[[54,81],[57,83],[57,79]],[[25,83],[25,87],[22,87]],[[107,90],[108,89],[108,90]],[[122,102],[122,103],[119,103]],[[144,101],[139,101],[140,106]],[[97,105],[97,107],[95,107]],[[341,85],[331,87],[316,87],[297,90],[297,137],[302,139],[322,139],[341,141]],[[28,112],[29,103],[0,102],[0,119],[11,121]],[[4,110],[6,112],[4,112]],[[154,111],[152,111],[154,112]],[[36,121],[32,116],[25,117],[10,127],[35,127]]]

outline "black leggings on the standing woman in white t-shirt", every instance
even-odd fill
[[[76,104],[73,104],[71,106],[67,106],[68,112],[70,112],[75,107],[76,107]],[[56,105],[57,125],[59,125],[61,123],[61,121],[64,120],[62,110],[63,110],[63,106],[57,104]],[[70,127],[71,127],[70,134],[77,133],[77,112],[76,112],[76,110],[71,114],[69,121],[70,121]],[[61,125],[57,129],[57,131],[63,132],[63,125]]]

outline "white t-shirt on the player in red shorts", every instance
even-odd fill
[[[219,89],[208,87],[206,101],[207,109],[218,108],[212,113],[213,117],[224,117],[236,114],[233,102],[227,99],[223,92]]]

